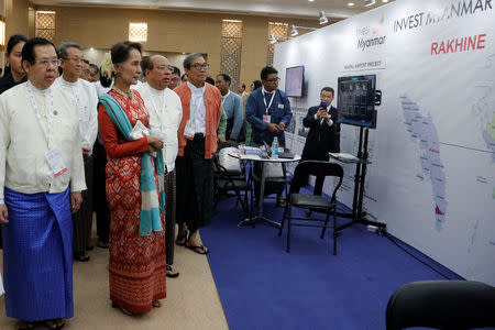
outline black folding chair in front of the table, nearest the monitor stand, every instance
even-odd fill
[[[299,194],[299,188],[306,182],[306,177],[308,175],[315,175],[317,178],[320,178],[320,182],[323,182],[326,177],[338,177],[339,183],[333,189],[331,199],[328,199],[321,195],[318,195],[318,191],[314,195],[309,194]],[[333,228],[333,255],[337,254],[337,238],[339,237],[339,232],[336,231],[337,227],[337,199],[336,194],[342,185],[343,178],[343,168],[339,164],[321,162],[321,161],[305,161],[299,163],[294,170],[294,177],[290,183],[290,190],[287,200],[287,206],[284,210],[284,216],[282,219],[280,230],[278,231],[278,235],[282,235],[282,231],[284,230],[285,219],[288,220],[287,228],[287,246],[286,251],[290,252],[290,227],[292,226],[305,226],[305,227],[318,227],[322,228],[321,239],[324,235],[324,230],[327,228]],[[327,218],[324,219],[324,223],[315,223],[322,222],[322,219],[314,219],[310,217],[307,218],[295,218],[293,217],[293,207],[302,208],[307,210],[312,210],[316,212],[326,213]],[[333,224],[328,224],[328,219],[332,215]],[[294,222],[293,220],[297,220]]]

